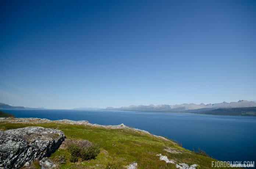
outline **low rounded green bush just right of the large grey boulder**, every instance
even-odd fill
[[[97,154],[100,153],[100,145],[90,144],[85,146],[85,144],[81,144],[81,142],[73,141],[68,145],[68,151],[71,154],[69,158],[70,162],[76,162],[78,158],[89,160],[95,158]]]

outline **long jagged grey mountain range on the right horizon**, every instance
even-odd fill
[[[239,100],[238,102],[222,102],[222,103],[214,103],[214,104],[176,104],[176,105],[168,105],[168,104],[160,104],[154,106],[150,104],[149,106],[144,105],[131,105],[128,107],[107,107],[105,110],[120,110],[120,111],[170,111],[170,112],[200,112],[206,110],[213,110],[218,108],[235,108],[235,107],[256,107],[256,103],[247,100]]]

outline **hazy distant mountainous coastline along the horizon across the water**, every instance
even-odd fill
[[[25,110],[46,110],[44,107],[30,108],[14,104],[0,103],[0,110],[4,109],[25,109]],[[57,109],[56,109],[57,110]],[[78,107],[73,109],[59,109],[59,110],[107,110],[107,111],[138,111],[138,112],[164,112],[164,113],[192,113],[192,114],[208,114],[208,115],[232,115],[232,116],[256,116],[256,102],[248,100],[239,100],[238,102],[222,102],[214,104],[175,104],[167,105],[160,104],[154,106],[131,105],[128,107],[107,107],[106,109],[96,107]]]

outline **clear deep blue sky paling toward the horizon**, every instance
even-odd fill
[[[0,102],[256,100],[256,1],[0,1]]]

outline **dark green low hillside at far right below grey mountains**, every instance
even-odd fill
[[[201,111],[197,114],[211,114],[211,115],[246,115],[246,116],[256,116],[256,107],[239,107],[230,109],[215,109]]]

